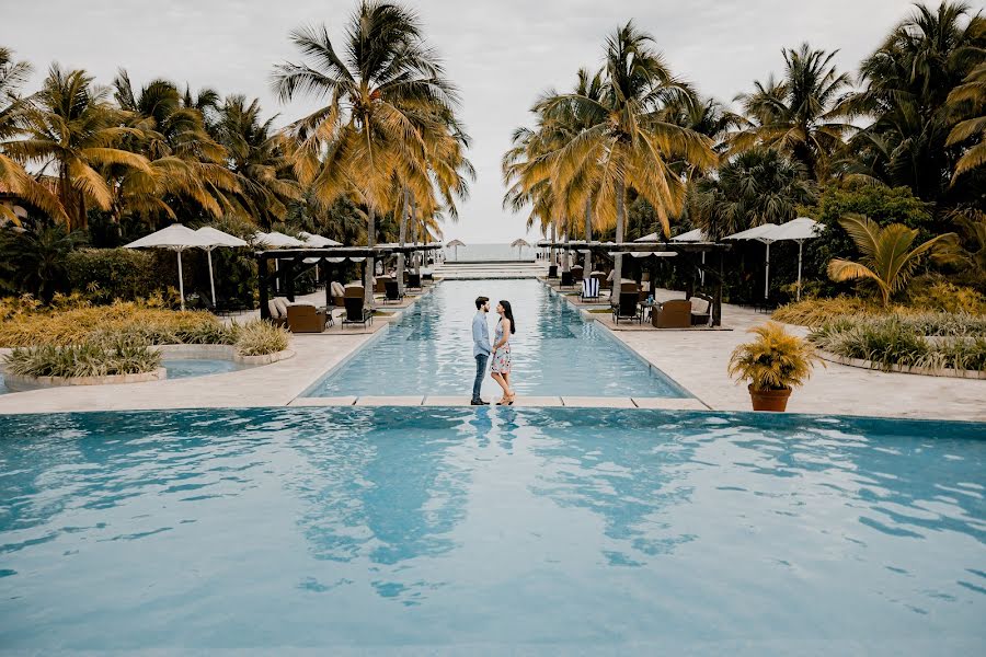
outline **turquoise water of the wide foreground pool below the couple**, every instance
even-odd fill
[[[984,425],[347,407],[0,436],[7,649],[986,646]]]

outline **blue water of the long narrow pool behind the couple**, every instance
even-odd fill
[[[470,394],[479,296],[492,299],[491,328],[496,302],[506,299],[513,306],[517,333],[511,338],[511,382],[518,394],[690,396],[537,280],[446,280],[306,395]],[[489,400],[498,391],[488,368],[483,395]]]

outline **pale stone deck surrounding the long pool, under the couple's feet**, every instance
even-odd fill
[[[425,289],[423,295],[429,293]],[[323,295],[322,295],[323,296]],[[660,290],[658,299],[681,296]],[[313,296],[317,301],[318,295]],[[420,298],[420,297],[419,297]],[[122,385],[46,389],[0,395],[0,414],[55,413],[69,411],[125,411],[223,406],[465,406],[461,397],[448,396],[345,396],[301,397],[326,370],[344,362],[359,347],[385,331],[391,321],[411,308],[386,307],[393,314],[377,318],[367,328],[335,328],[319,335],[295,335],[295,357],[273,365],[236,372],[173,381]],[[746,330],[766,322],[766,314],[725,304],[725,330],[654,330],[646,326],[615,326],[608,314],[592,313],[589,306],[569,299],[586,320],[599,322],[614,338],[622,342],[653,367],[685,388],[693,397],[518,397],[515,406],[576,406],[619,408],[668,408],[749,411],[745,387],[726,377],[733,348],[749,338]],[[601,307],[608,306],[604,300]],[[599,306],[597,306],[599,308]],[[380,307],[385,310],[385,307]],[[805,328],[791,326],[804,334]],[[523,357],[518,355],[518,357]],[[929,419],[986,422],[986,380],[947,379],[919,374],[887,373],[828,362],[816,367],[812,379],[794,392],[788,405],[792,413],[864,415]],[[463,381],[463,391],[469,382]]]

